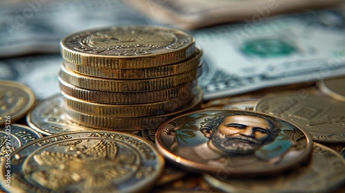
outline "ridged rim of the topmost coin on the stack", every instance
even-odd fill
[[[160,53],[160,54],[146,54],[137,56],[109,56],[101,54],[88,54],[84,52],[78,52],[77,50],[72,50],[66,45],[66,41],[72,37],[77,36],[81,33],[95,33],[102,30],[112,30],[113,28],[152,28],[152,30],[166,30],[167,32],[177,32],[179,34],[184,34],[186,38],[190,39],[190,42],[179,48],[177,50],[170,50],[170,52]],[[76,32],[75,34],[70,34],[64,37],[60,42],[60,50],[63,59],[76,63],[79,65],[97,65],[109,66],[115,69],[135,69],[135,68],[149,68],[159,65],[167,65],[171,63],[177,63],[187,59],[195,52],[195,39],[192,34],[185,32],[177,28],[167,28],[163,26],[111,26],[108,28],[97,28],[93,30],[83,30]]]

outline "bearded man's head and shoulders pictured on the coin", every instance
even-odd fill
[[[282,123],[264,114],[224,113],[201,121],[199,132],[208,139],[193,147],[179,147],[177,154],[192,161],[228,167],[273,164],[281,157],[262,159],[255,152],[275,141]]]

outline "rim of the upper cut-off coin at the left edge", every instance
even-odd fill
[[[26,115],[26,113],[34,106],[34,103],[36,102],[36,96],[34,95],[34,92],[28,85],[25,85],[23,83],[19,83],[16,81],[7,81],[7,80],[1,80],[0,81],[0,87],[1,85],[10,86],[12,88],[23,90],[26,94],[28,94],[28,102],[26,103],[24,108],[21,108],[21,110],[16,111],[17,114],[10,114],[10,123],[17,121],[21,119],[23,116]],[[6,119],[3,119],[3,121],[0,121],[0,126],[6,125]]]

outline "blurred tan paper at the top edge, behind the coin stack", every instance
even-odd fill
[[[342,0],[124,0],[154,20],[196,29],[233,21],[259,21],[275,14],[337,6]]]

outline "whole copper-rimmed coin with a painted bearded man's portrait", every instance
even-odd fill
[[[240,110],[200,110],[159,127],[156,145],[193,171],[230,176],[279,174],[310,159],[311,136],[275,116]]]

